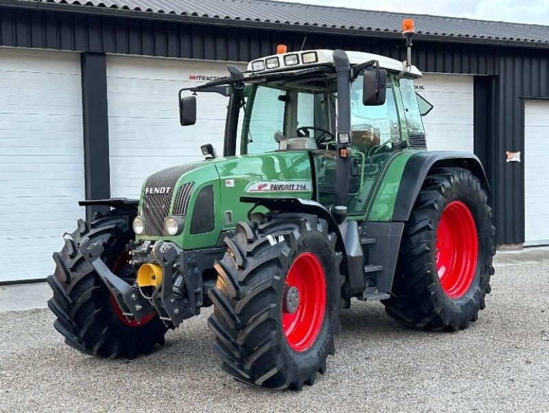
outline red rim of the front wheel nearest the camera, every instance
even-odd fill
[[[299,255],[288,271],[286,284],[299,291],[299,305],[294,313],[282,311],[284,335],[290,347],[305,351],[318,337],[326,309],[324,269],[316,255],[310,252]]]

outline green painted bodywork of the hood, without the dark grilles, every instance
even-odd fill
[[[169,199],[169,215],[172,215],[180,188],[193,184],[183,231],[175,236],[137,236],[137,240],[172,241],[186,250],[215,247],[222,232],[234,230],[237,221],[248,220],[247,213],[253,204],[240,202],[240,197],[311,199],[313,194],[311,164],[309,153],[305,150],[219,157],[185,166],[194,168],[178,177],[174,188],[170,190],[172,195]],[[139,214],[145,217],[148,215],[145,202],[148,181],[145,180],[139,201]],[[200,193],[205,189],[213,190],[213,205],[209,205],[208,200],[200,200]],[[261,212],[261,209],[258,211]],[[202,214],[204,221],[213,223],[211,227],[205,227],[204,231],[193,230],[195,214]]]

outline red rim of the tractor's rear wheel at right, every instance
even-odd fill
[[[461,201],[452,201],[441,215],[436,231],[436,271],[444,292],[460,298],[475,278],[478,236],[473,214]]]

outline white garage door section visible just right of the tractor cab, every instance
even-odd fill
[[[427,148],[473,152],[473,76],[424,74],[415,87],[434,106],[423,117]]]

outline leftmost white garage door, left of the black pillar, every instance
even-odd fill
[[[45,278],[84,216],[78,54],[0,48],[0,282]]]

